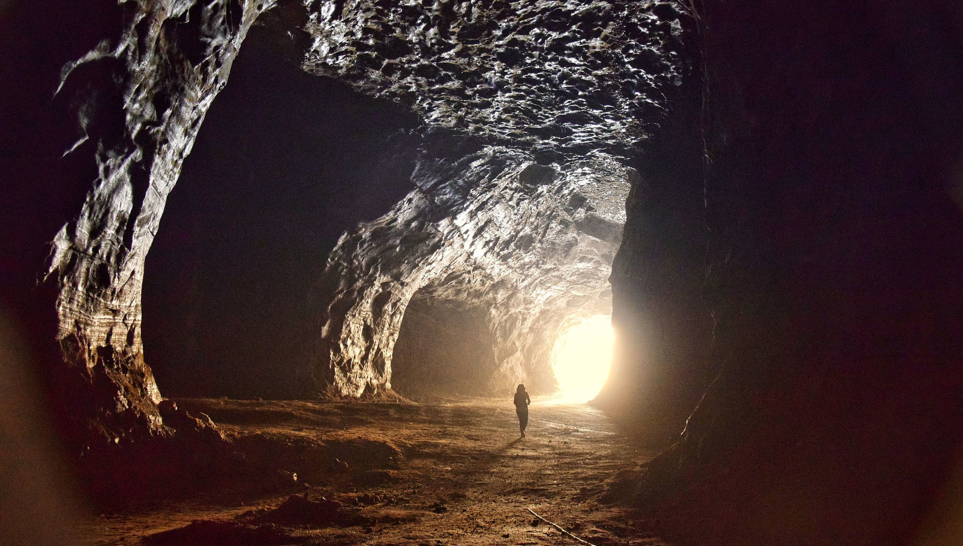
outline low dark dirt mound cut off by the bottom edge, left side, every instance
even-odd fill
[[[300,544],[307,538],[287,533],[273,524],[244,525],[236,521],[195,520],[180,529],[143,537],[144,546],[245,546]]]

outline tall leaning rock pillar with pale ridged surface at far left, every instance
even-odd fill
[[[112,441],[162,430],[143,362],[143,262],[184,157],[255,17],[271,0],[147,1],[118,7],[118,36],[66,65],[58,93],[77,105],[97,178],[53,242],[58,338],[80,426]],[[80,386],[84,385],[84,386]],[[92,413],[91,413],[92,412]]]

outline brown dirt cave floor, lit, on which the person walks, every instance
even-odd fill
[[[638,513],[602,501],[618,473],[638,470],[655,453],[587,405],[535,397],[527,437],[519,439],[510,400],[177,402],[210,415],[234,446],[274,446],[262,449],[280,462],[265,472],[287,483],[100,514],[85,526],[92,543],[579,544],[535,525],[531,508],[598,546],[669,544]],[[288,470],[299,471],[297,481]],[[314,503],[287,509],[293,494]],[[223,523],[218,536],[198,524],[171,531],[195,520]]]

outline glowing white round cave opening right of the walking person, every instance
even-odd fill
[[[602,390],[612,368],[612,317],[595,315],[565,330],[552,348],[560,402],[586,403]]]

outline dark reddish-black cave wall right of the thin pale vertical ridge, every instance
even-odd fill
[[[701,7],[718,375],[639,498],[696,542],[907,543],[963,431],[960,9]]]

